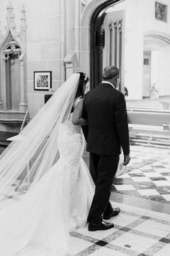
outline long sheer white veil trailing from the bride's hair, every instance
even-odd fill
[[[58,127],[68,121],[79,74],[72,74],[0,156],[0,200],[19,200],[58,160]]]

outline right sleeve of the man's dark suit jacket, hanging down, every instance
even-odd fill
[[[115,104],[115,124],[123,153],[128,155],[130,153],[128,115],[125,96],[122,93],[120,93]]]

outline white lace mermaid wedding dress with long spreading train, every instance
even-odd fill
[[[1,256],[70,255],[69,231],[86,224],[94,184],[71,114],[58,129],[59,160],[18,202],[0,211]]]

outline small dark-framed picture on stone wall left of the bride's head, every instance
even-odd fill
[[[52,86],[51,71],[35,71],[34,72],[34,89],[35,90],[50,90]]]

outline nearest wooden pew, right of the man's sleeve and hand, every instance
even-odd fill
[[[170,145],[170,111],[128,110],[131,142]]]

